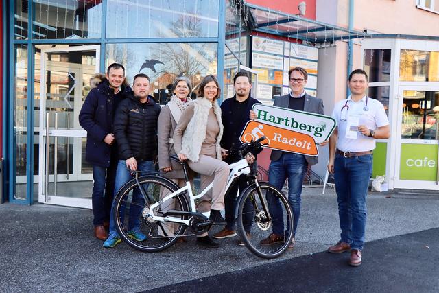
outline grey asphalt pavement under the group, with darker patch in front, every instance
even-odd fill
[[[340,231],[333,189],[321,192],[304,189],[296,248],[272,260],[237,238],[214,250],[195,237],[161,253],[105,249],[89,210],[0,204],[0,292],[439,291],[438,195],[370,194],[363,265],[351,268],[347,253],[324,252]]]

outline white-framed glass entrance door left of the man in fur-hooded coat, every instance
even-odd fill
[[[92,167],[78,116],[99,46],[41,50],[38,202],[91,209]]]

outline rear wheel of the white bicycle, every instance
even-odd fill
[[[178,236],[185,233],[184,224],[156,221],[147,216],[150,213],[150,205],[155,204],[167,194],[178,190],[178,187],[166,178],[159,176],[141,176],[139,184],[147,197],[145,202],[135,180],[124,185],[115,198],[113,211],[117,231],[130,246],[145,252],[164,250],[173,245]],[[188,211],[187,199],[180,194],[174,199],[161,202],[154,209],[154,215],[163,215],[165,211],[177,210]],[[185,219],[185,216],[173,216]],[[140,232],[140,233],[139,233]],[[139,236],[146,236],[144,237]]]

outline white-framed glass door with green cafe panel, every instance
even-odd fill
[[[439,190],[439,87],[400,86],[395,188]]]

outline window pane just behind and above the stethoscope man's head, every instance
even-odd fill
[[[364,50],[364,71],[369,82],[390,81],[390,49]]]

